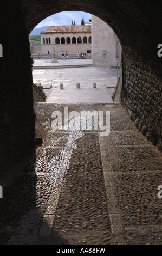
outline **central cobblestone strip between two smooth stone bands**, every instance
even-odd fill
[[[60,235],[60,239],[59,239]],[[77,141],[51,233],[51,244],[111,245],[98,134]]]

